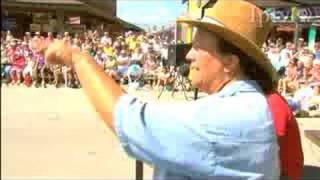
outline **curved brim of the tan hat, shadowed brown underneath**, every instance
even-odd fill
[[[261,51],[261,49],[255,43],[243,37],[241,34],[235,33],[222,25],[203,22],[201,20],[179,18],[177,22],[185,23],[195,27],[201,27],[217,34],[219,37],[233,44],[234,46],[239,48],[243,53],[252,58],[252,60],[254,60],[258,66],[260,66],[262,69],[266,71],[266,73],[268,73],[269,77],[271,77],[273,81],[276,81],[278,79],[277,72],[273,68],[268,57]]]

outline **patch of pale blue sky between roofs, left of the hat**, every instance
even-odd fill
[[[117,16],[139,26],[173,23],[186,8],[182,0],[117,0]]]

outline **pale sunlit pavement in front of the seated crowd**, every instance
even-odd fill
[[[182,93],[165,92],[159,100],[157,91],[129,93],[150,101],[185,101]],[[2,86],[1,97],[1,179],[135,178],[135,160],[123,152],[83,90]],[[320,148],[303,131],[320,130],[320,119],[298,123],[305,165],[317,176]],[[152,167],[145,165],[144,179],[151,178]]]

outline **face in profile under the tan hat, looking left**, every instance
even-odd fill
[[[198,29],[192,43],[186,57],[191,61],[192,85],[208,92],[212,84],[223,79],[224,74],[222,56],[217,51],[218,38],[210,32]]]

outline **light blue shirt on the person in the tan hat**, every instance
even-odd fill
[[[272,116],[255,81],[187,103],[124,95],[114,123],[128,155],[155,167],[154,179],[279,178]]]

